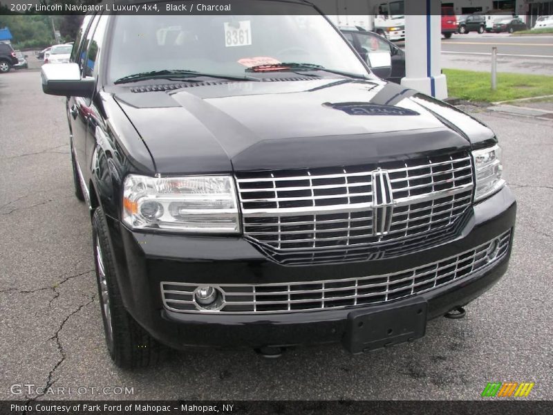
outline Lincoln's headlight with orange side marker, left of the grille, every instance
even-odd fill
[[[231,176],[147,177],[124,181],[123,221],[135,229],[240,231]]]

